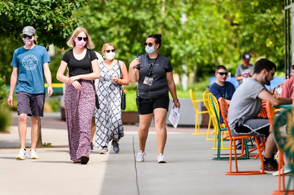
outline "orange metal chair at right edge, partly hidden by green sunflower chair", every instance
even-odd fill
[[[275,111],[274,111],[272,104],[270,104],[269,101],[266,102],[265,109],[268,113],[268,119],[270,121],[270,126],[273,127],[274,126],[273,119],[275,117]],[[283,151],[280,149],[280,147],[279,147],[279,150],[280,150],[280,156],[279,156],[278,171],[280,172],[284,162],[283,162]],[[273,191],[272,194],[285,194],[285,175],[284,175],[284,173],[278,174],[278,190]],[[294,190],[288,190],[287,194],[294,194]]]

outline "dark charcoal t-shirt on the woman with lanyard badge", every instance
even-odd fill
[[[144,54],[139,56],[139,60],[140,64],[135,66],[135,68],[139,69],[140,72],[140,79],[138,81],[139,95],[142,98],[148,99],[168,95],[166,72],[173,71],[170,60],[160,54],[158,54],[157,59],[149,59],[147,54]],[[152,85],[144,84],[146,80],[145,77],[153,78]]]

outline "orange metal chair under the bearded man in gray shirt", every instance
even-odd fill
[[[235,168],[236,168],[236,171],[232,171],[232,160],[233,160],[233,157],[232,157],[232,150],[234,149],[234,158],[237,159],[237,151],[236,151],[236,143],[235,143],[235,140],[239,140],[239,139],[247,139],[249,137],[252,137],[252,135],[243,135],[243,136],[232,136],[231,133],[230,133],[230,128],[228,126],[228,121],[227,121],[227,116],[228,116],[228,104],[227,102],[225,101],[225,99],[223,98],[220,98],[220,112],[223,116],[223,120],[225,122],[225,125],[227,126],[228,128],[228,134],[230,136],[230,168],[229,168],[229,172],[226,172],[225,174],[226,175],[253,175],[253,174],[266,174],[264,172],[264,166],[263,166],[263,158],[262,158],[262,155],[261,155],[261,151],[260,151],[260,146],[257,145],[258,147],[258,152],[259,152],[259,157],[260,157],[260,162],[261,162],[261,170],[258,170],[258,171],[239,171],[238,170],[238,160],[235,160]],[[258,143],[258,139],[257,137],[255,137],[255,141],[256,143]],[[234,148],[232,146],[232,144],[234,143]],[[244,141],[244,143],[247,145],[247,142]]]

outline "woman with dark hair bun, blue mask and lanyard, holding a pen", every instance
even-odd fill
[[[138,129],[139,152],[136,161],[144,162],[146,140],[154,115],[157,161],[165,163],[163,150],[167,138],[165,121],[169,105],[168,91],[171,93],[175,107],[180,108],[180,102],[173,80],[171,62],[167,57],[158,53],[161,46],[161,34],[149,35],[144,46],[147,53],[134,59],[129,66],[131,82],[138,82],[136,103],[140,124]]]

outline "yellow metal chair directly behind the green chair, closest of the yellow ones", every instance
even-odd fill
[[[214,139],[213,139],[213,150],[218,150],[218,147],[216,147],[216,140],[218,140],[218,142],[220,142],[221,144],[221,147],[220,147],[220,150],[228,150],[230,149],[230,147],[224,147],[223,146],[223,136],[222,135],[222,131],[219,130],[218,126],[220,126],[219,124],[219,119],[220,119],[220,108],[219,108],[219,104],[218,104],[218,100],[216,99],[216,97],[212,94],[212,93],[208,93],[208,96],[211,97],[212,101],[209,101],[209,107],[211,108],[211,110],[214,110],[213,109],[213,106],[215,107],[216,109],[216,113],[217,115],[215,114],[215,112],[213,112],[213,120],[214,121],[214,124],[215,124],[215,128],[217,128],[218,131],[218,134],[220,134],[220,139],[217,138],[216,134],[214,134]],[[217,117],[217,118],[216,118]],[[218,144],[219,145],[219,144]]]

